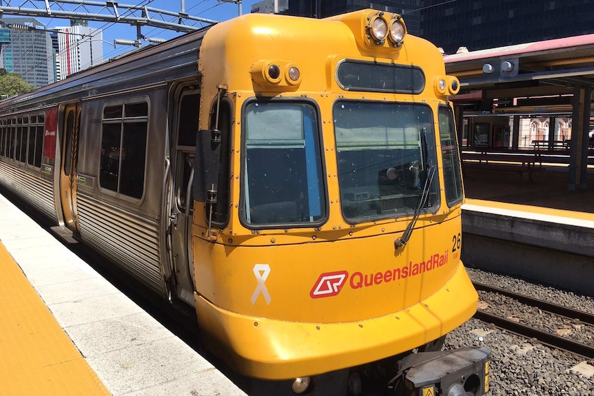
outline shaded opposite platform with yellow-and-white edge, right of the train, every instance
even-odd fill
[[[585,191],[569,191],[563,167],[530,181],[488,167],[464,174],[464,264],[594,295],[594,174]]]

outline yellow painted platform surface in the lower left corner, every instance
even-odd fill
[[[0,395],[111,395],[0,241]]]

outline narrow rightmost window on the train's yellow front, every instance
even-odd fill
[[[444,162],[444,187],[448,206],[462,202],[460,156],[455,139],[453,115],[449,107],[439,108],[440,139]]]

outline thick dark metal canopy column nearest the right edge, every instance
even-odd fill
[[[575,85],[573,87],[569,191],[586,189],[591,95],[592,87],[585,85]]]

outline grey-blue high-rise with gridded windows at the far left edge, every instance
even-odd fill
[[[9,42],[0,49],[0,67],[19,74],[27,83],[43,87],[54,82],[52,39],[34,18],[2,18]],[[0,32],[6,39],[6,31]],[[4,40],[6,41],[6,40]]]

